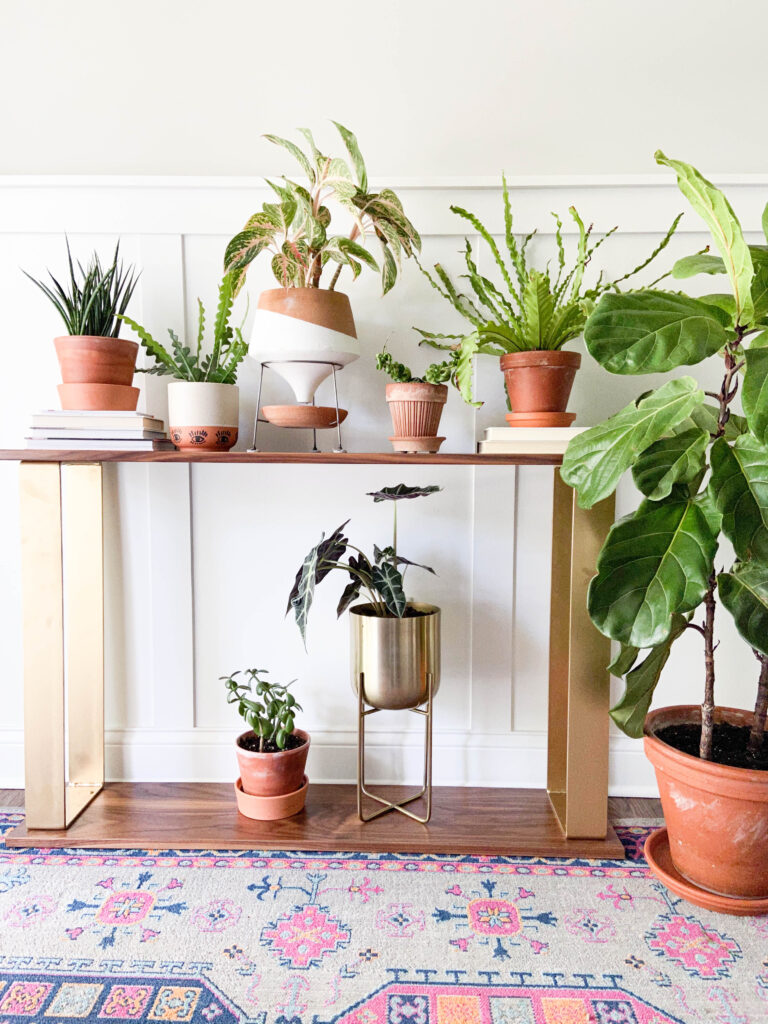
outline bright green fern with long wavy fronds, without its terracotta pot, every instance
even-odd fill
[[[593,225],[585,226],[577,208],[571,206],[568,213],[575,223],[578,242],[575,254],[568,260],[563,241],[563,222],[558,214],[553,213],[556,269],[550,269],[551,260],[537,268],[530,263],[527,253],[528,244],[537,230],[521,239],[515,237],[512,205],[504,176],[502,183],[503,245],[506,248],[504,255],[494,236],[478,217],[460,206],[451,207],[452,212],[466,220],[484,242],[496,264],[498,284],[478,269],[469,239],[464,240],[466,272],[462,274],[468,282],[467,290],[461,291],[439,263],[434,265],[434,273],[421,267],[432,288],[470,325],[469,331],[458,334],[434,334],[420,328],[415,329],[422,337],[421,344],[458,352],[457,382],[467,402],[472,402],[472,361],[476,353],[500,356],[508,352],[537,349],[558,350],[568,341],[579,338],[584,333],[587,316],[600,296],[608,291],[617,291],[622,283],[648,266],[667,247],[682,216],[681,214],[674,220],[664,239],[642,263],[614,281],[606,279],[600,271],[588,287],[585,284],[587,268],[597,250],[616,227],[612,227],[601,238],[594,239]]]

